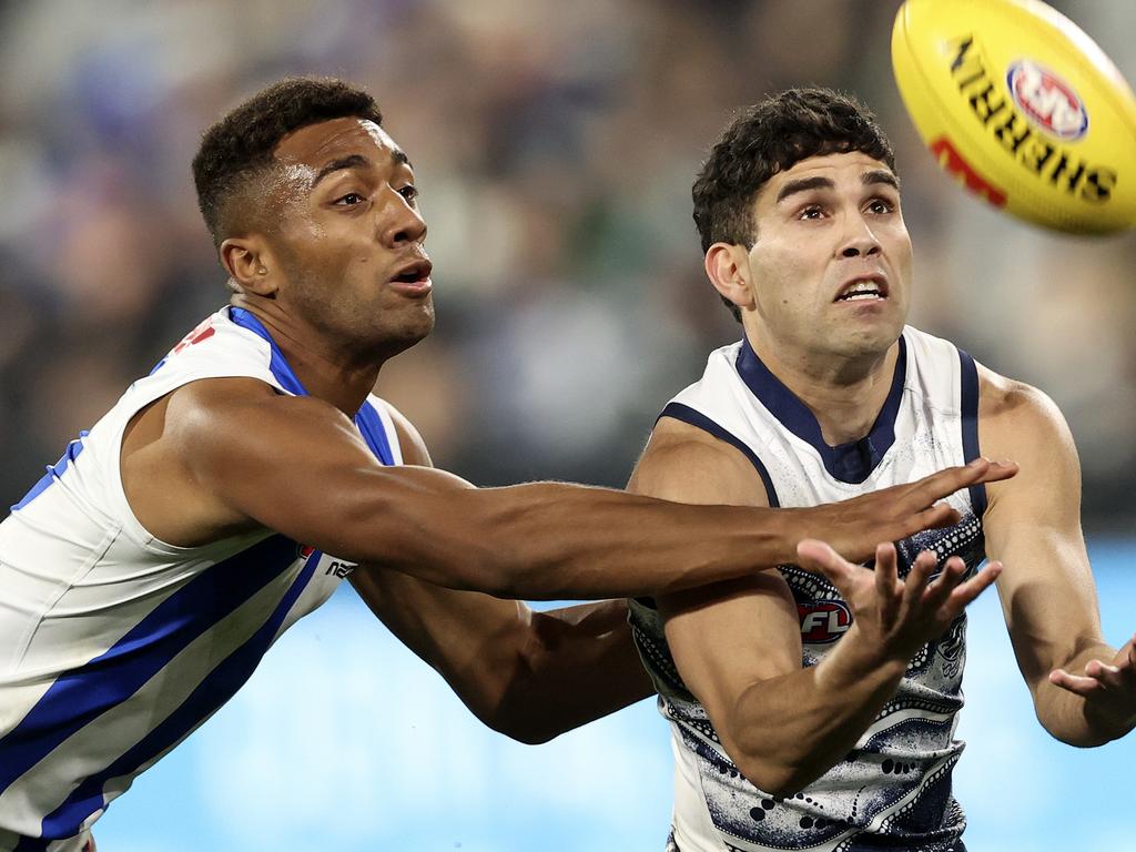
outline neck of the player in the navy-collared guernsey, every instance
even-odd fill
[[[746,340],[769,371],[817,418],[829,446],[859,441],[871,432],[892,389],[899,341],[884,352],[849,359],[794,354],[791,348],[749,331]]]

